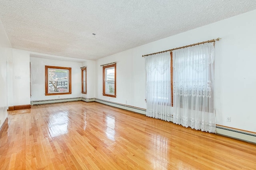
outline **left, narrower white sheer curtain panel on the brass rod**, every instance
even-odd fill
[[[171,121],[170,52],[146,57],[146,116]]]

